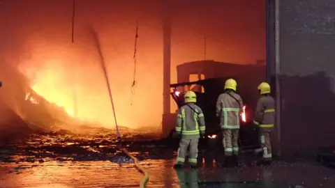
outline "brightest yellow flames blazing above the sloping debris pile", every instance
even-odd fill
[[[92,116],[88,116],[89,112],[87,110],[78,113],[75,97],[80,93],[74,93],[77,89],[73,88],[75,84],[73,84],[73,81],[67,80],[69,74],[66,75],[67,72],[61,65],[57,65],[57,62],[46,62],[43,69],[20,65],[19,70],[31,81],[31,89],[34,93],[42,96],[47,102],[63,109],[68,116],[76,120],[98,123],[93,122],[94,120]],[[34,105],[39,104],[39,101],[30,92],[26,94],[25,100]]]

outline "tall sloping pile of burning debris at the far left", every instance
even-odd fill
[[[68,111],[38,95],[13,65],[3,63],[2,66],[0,133],[75,131],[79,122]]]

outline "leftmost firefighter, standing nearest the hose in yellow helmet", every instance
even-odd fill
[[[198,157],[198,142],[200,134],[203,137],[205,131],[204,114],[198,107],[197,95],[193,91],[188,91],[184,95],[185,104],[178,110],[176,132],[181,137],[177,153],[177,162],[174,166],[182,167],[188,146],[190,146],[188,164],[195,167]]]

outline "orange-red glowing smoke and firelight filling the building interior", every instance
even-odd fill
[[[77,116],[105,127],[114,126],[112,109],[90,26],[101,42],[119,124],[128,127],[161,123],[166,11],[172,20],[172,82],[177,80],[175,66],[187,61],[265,60],[265,0],[116,2],[76,0],[72,43],[72,1],[0,1],[0,55],[17,65],[47,100],[73,111],[75,97]],[[132,97],[137,21],[137,86]]]

